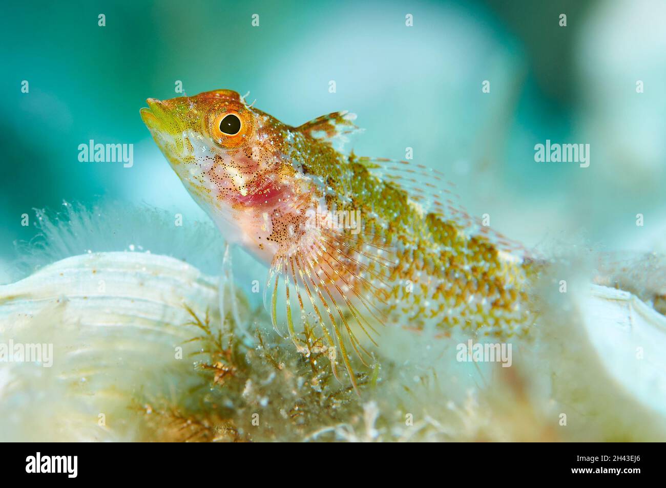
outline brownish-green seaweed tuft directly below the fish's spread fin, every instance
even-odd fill
[[[210,314],[199,317],[185,306],[196,331],[186,342],[200,346],[194,367],[200,383],[182,397],[142,399],[149,438],[159,441],[302,441],[334,439],[331,425],[362,417],[363,405],[350,381],[338,379],[327,360],[324,338],[306,325],[302,348],[255,328],[254,341],[221,328]],[[372,374],[357,373],[360,391]],[[155,406],[159,405],[159,406]],[[317,435],[312,435],[317,433]]]

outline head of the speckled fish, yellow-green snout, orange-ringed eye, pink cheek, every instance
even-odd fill
[[[316,193],[294,157],[296,128],[230,90],[147,103],[141,117],[192,198],[228,241],[270,262]]]

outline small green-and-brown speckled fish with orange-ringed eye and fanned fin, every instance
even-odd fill
[[[359,132],[352,113],[292,126],[228,89],[147,105],[143,122],[186,190],[268,267],[274,328],[286,322],[299,350],[297,326],[318,328],[354,388],[352,351],[372,360],[357,334],[374,346],[393,324],[529,334],[537,260],[471,216],[440,170],[346,152]]]

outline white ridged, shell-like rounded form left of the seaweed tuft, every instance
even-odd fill
[[[3,440],[133,438],[133,398],[183,391],[196,377],[184,304],[201,320],[216,313],[216,282],[139,252],[74,256],[0,286],[0,343],[53,344],[52,367],[0,360]]]

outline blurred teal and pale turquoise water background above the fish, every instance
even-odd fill
[[[583,236],[666,251],[665,18],[661,0],[9,1],[0,279],[14,242],[35,234],[33,208],[109,198],[206,218],[139,117],[147,97],[178,96],[177,81],[190,95],[250,91],[289,124],[352,111],[366,130],[348,148],[413,148],[527,246]],[[133,166],[79,162],[90,139],[134,144]],[[535,162],[546,139],[590,144],[589,167]]]

